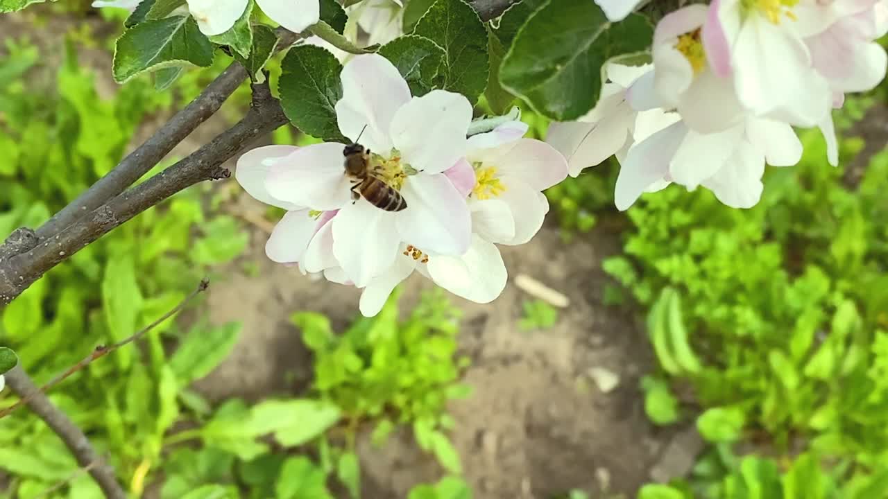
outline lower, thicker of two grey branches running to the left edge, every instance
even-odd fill
[[[267,82],[254,84],[250,111],[234,127],[210,143],[78,218],[59,234],[48,240],[40,240],[26,252],[9,257],[4,257],[0,252],[0,304],[10,303],[53,266],[172,194],[203,180],[228,178],[231,172],[220,168],[223,162],[241,152],[254,139],[274,131],[287,121],[281,104],[272,97]]]

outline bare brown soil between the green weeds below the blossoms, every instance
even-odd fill
[[[239,209],[258,207],[244,202]],[[304,387],[311,358],[289,314],[319,311],[344,327],[357,313],[355,289],[272,264],[264,256],[265,241],[266,234],[256,230],[244,258],[256,262],[258,272],[222,272],[229,277],[214,282],[208,298],[212,321],[243,323],[234,355],[197,384],[212,400],[258,400]],[[565,245],[556,230],[543,228],[533,242],[503,248],[510,284],[496,302],[453,297],[464,310],[460,348],[472,359],[464,382],[474,393],[451,405],[451,436],[478,499],[544,499],[572,488],[591,497],[629,497],[651,479],[652,469],[662,468],[660,456],[676,432],[646,421],[638,379],[651,368],[652,353],[633,313],[602,305],[609,281],[600,269],[606,256],[601,248],[618,248],[614,236],[599,231]],[[512,282],[519,273],[570,298],[553,328],[519,329],[522,302],[529,298]],[[405,302],[429,286],[415,275],[406,283]],[[601,370],[615,376],[612,390],[599,389],[595,377]],[[676,441],[680,445],[673,443],[670,455],[697,450],[693,438]],[[441,474],[409,432],[396,433],[385,448],[370,445],[364,435],[358,449],[370,499],[406,497],[416,483]],[[675,471],[658,472],[662,478]]]

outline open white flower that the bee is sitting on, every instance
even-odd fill
[[[363,288],[392,267],[403,244],[426,255],[463,255],[471,242],[469,209],[442,172],[465,154],[472,119],[468,100],[448,91],[411,98],[398,70],[376,54],[352,59],[341,79],[343,99],[336,106],[340,131],[352,140],[361,135],[375,174],[400,189],[407,209],[381,210],[362,197],[353,202],[353,181],[343,167],[345,144],[244,154],[238,180],[260,201],[283,202],[288,210],[338,210],[321,227],[305,221],[308,211],[302,211],[292,216],[292,225],[281,228],[289,234],[281,235],[281,241],[299,241],[300,248],[306,248],[305,234],[316,229],[320,236],[329,230],[329,259],[312,262],[306,257],[300,267],[307,272],[336,265]],[[275,257],[297,261],[300,250],[291,251],[288,257]],[[305,251],[311,253],[311,243]]]

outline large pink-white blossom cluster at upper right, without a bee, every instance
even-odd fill
[[[612,20],[633,2],[596,0]],[[607,65],[597,107],[579,123],[553,123],[548,140],[576,176],[614,154],[615,202],[675,182],[704,186],[735,208],[755,205],[765,162],[795,164],[793,126],[819,127],[838,162],[831,110],[885,75],[876,38],[888,0],[712,0],[665,16],[653,63]]]

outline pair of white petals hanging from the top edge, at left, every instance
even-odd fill
[[[206,36],[221,35],[234,26],[247,10],[249,0],[186,0],[188,11]],[[304,31],[321,19],[318,0],[256,0],[262,12],[294,33]]]

